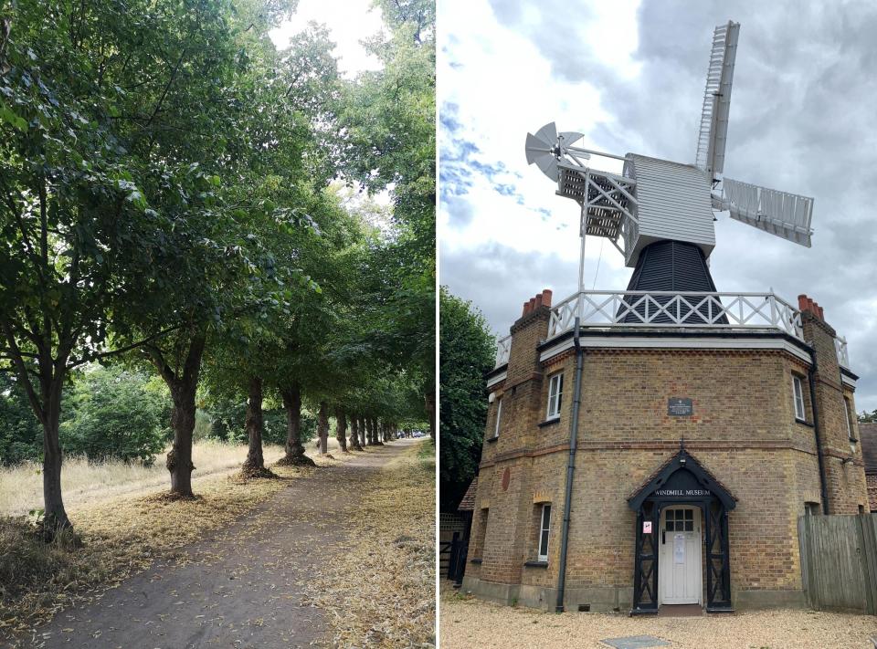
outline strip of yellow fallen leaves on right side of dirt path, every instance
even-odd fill
[[[309,596],[329,612],[333,646],[435,644],[434,448],[412,446],[382,469],[346,514],[333,560],[317,566]]]

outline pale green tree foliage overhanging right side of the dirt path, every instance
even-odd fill
[[[425,0],[377,4],[390,34],[368,47],[384,68],[344,90],[340,156],[348,179],[391,190],[396,230],[372,262],[384,271],[373,275],[372,302],[382,307],[375,346],[419,383],[434,438],[435,11]]]

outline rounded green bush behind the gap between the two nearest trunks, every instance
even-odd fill
[[[61,446],[68,455],[90,460],[140,460],[151,465],[164,449],[168,398],[142,372],[95,366],[74,382],[61,423]]]

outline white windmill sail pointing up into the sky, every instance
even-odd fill
[[[695,164],[710,180],[724,170],[724,143],[728,134],[728,112],[731,109],[731,82],[734,79],[734,58],[740,23],[729,21],[713,32],[713,50],[706,72],[703,91],[701,130],[697,136]]]

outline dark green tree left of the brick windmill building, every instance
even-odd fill
[[[470,302],[439,290],[439,507],[456,508],[481,460],[487,417],[484,374],[496,340]]]

